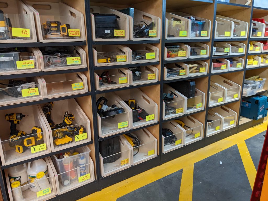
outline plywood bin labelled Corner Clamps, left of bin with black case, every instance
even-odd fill
[[[187,98],[184,95],[168,84],[164,84],[163,93],[172,93],[174,96],[172,101],[165,101],[163,99],[163,119],[170,119],[186,114]]]

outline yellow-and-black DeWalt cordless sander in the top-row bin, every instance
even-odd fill
[[[70,25],[61,25],[60,21],[46,21],[42,24],[42,32],[46,39],[69,36],[68,29],[70,29]]]

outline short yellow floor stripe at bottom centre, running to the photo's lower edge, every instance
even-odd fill
[[[192,201],[193,197],[193,164],[183,168],[179,201]]]

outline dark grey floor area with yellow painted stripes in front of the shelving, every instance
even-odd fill
[[[267,121],[80,201],[249,201]]]

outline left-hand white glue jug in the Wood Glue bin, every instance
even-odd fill
[[[8,168],[8,177],[14,179],[14,181],[19,181],[21,186],[21,191],[26,191],[29,188],[29,181],[27,175],[26,163]]]

